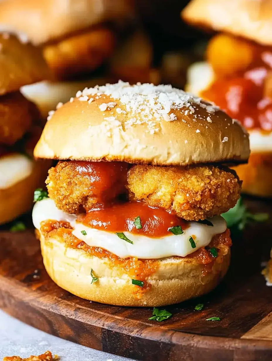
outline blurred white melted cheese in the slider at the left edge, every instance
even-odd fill
[[[23,154],[12,153],[0,157],[0,189],[12,187],[29,177],[33,161]]]

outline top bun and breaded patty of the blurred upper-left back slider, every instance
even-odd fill
[[[43,47],[56,79],[94,70],[115,47],[109,22],[131,16],[129,0],[1,0],[0,24]]]

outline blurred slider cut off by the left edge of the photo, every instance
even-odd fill
[[[46,178],[48,166],[33,160],[42,132],[40,113],[19,89],[47,77],[40,49],[0,33],[0,224],[30,210],[33,191]]]

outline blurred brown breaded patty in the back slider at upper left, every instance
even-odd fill
[[[112,30],[97,27],[46,45],[43,55],[56,79],[69,79],[101,65],[112,54],[115,40]]]

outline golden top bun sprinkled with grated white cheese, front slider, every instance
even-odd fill
[[[249,138],[218,107],[170,85],[119,81],[49,112],[36,158],[154,165],[243,163]]]

